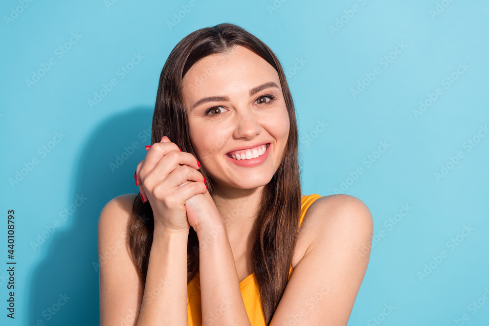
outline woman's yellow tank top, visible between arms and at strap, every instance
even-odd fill
[[[306,215],[306,211],[311,204],[318,198],[318,194],[312,194],[304,196],[301,199],[301,215],[299,221],[299,227],[302,224],[302,220]],[[292,266],[289,270],[289,279],[292,275]],[[260,292],[258,290],[258,283],[255,280],[255,273],[248,275],[243,281],[240,282],[241,296],[243,297],[244,307],[248,314],[249,321],[253,326],[266,326],[265,316],[263,315],[262,305],[260,302]],[[199,273],[187,284],[187,313],[188,313],[188,325],[200,326],[202,325],[202,310],[200,304],[200,280]]]

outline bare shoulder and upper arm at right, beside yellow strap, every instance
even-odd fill
[[[323,196],[308,208],[304,223],[310,244],[270,326],[287,325],[290,311],[301,311],[300,325],[347,325],[370,258],[370,249],[364,250],[372,243],[370,210],[354,196]]]

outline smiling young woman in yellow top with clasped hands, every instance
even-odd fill
[[[372,217],[353,196],[301,195],[294,104],[266,44],[229,23],[181,40],[147,148],[140,194],[100,214],[101,325],[347,324]]]

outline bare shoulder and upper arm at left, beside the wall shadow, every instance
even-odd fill
[[[133,325],[142,302],[143,284],[127,245],[133,198],[111,199],[98,220],[100,325]]]

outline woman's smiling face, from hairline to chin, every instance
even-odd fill
[[[238,45],[229,53],[202,58],[182,82],[191,142],[214,185],[266,185],[282,161],[290,128],[275,69]],[[251,146],[256,152],[237,153],[249,158],[261,154],[266,144],[266,152],[250,160],[227,155]]]

